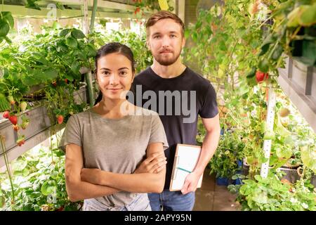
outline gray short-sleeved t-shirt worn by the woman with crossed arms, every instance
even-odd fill
[[[163,143],[164,150],[168,148],[159,115],[144,108],[136,110],[136,115],[120,119],[107,119],[91,109],[72,115],[62,134],[60,148],[65,150],[70,143],[81,146],[85,168],[132,174],[146,158],[150,143]],[[95,200],[105,206],[124,207],[133,198],[136,193],[120,191]]]

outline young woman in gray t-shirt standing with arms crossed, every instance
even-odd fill
[[[168,143],[159,115],[126,101],[135,72],[129,47],[101,47],[102,99],[70,117],[62,135],[67,193],[72,201],[84,199],[83,210],[151,210],[147,193],[164,188]]]

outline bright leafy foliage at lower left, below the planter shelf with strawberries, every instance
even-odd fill
[[[14,189],[8,176],[0,174],[1,210],[78,210],[81,205],[67,199],[64,165],[65,154],[57,148],[34,148],[20,155],[11,162]]]

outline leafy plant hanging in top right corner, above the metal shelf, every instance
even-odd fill
[[[283,64],[282,53],[294,56],[305,65],[315,65],[315,11],[313,0],[290,0],[282,2],[271,12],[273,25],[266,32],[258,54],[261,71],[279,68]]]

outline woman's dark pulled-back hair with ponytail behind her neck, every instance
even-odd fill
[[[111,43],[105,44],[104,46],[102,46],[98,50],[98,52],[96,53],[96,58],[95,58],[96,59],[96,72],[98,71],[99,58],[106,56],[110,53],[120,53],[123,56],[125,56],[126,58],[128,58],[131,61],[132,71],[136,72],[133,51],[131,51],[131,49],[128,46],[126,46],[125,44],[121,44],[119,42],[111,42]],[[102,97],[103,97],[102,92],[100,91],[98,98],[96,98],[94,105],[99,103],[102,100]]]

